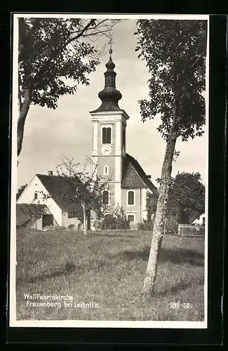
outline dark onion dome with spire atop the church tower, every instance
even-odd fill
[[[101,111],[115,111],[120,110],[118,101],[121,100],[122,95],[119,90],[116,89],[116,72],[114,72],[114,68],[116,67],[114,62],[112,61],[112,48],[109,50],[109,60],[105,67],[107,71],[105,74],[105,88],[98,93],[98,97],[102,100],[102,104],[93,112],[101,112]]]

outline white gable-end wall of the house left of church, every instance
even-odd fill
[[[58,225],[62,225],[62,210],[53,199],[43,199],[43,195],[39,192],[43,191],[48,195],[46,188],[43,186],[39,178],[35,175],[25,190],[20,195],[17,204],[46,204],[49,211],[53,214],[54,220]],[[37,200],[34,200],[34,193],[37,193]]]

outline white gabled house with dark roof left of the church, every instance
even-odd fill
[[[83,223],[83,209],[81,205],[71,201],[70,196],[65,196],[70,195],[70,192],[72,190],[69,184],[54,176],[52,171],[47,175],[35,174],[20,194],[17,204],[45,204],[48,213],[53,216],[52,225],[74,225],[78,229]],[[45,220],[42,223],[44,225]],[[90,229],[90,210],[86,210],[86,223]]]

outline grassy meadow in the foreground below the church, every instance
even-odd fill
[[[154,296],[144,300],[150,242],[151,234],[140,231],[105,232],[101,241],[94,232],[85,239],[67,230],[18,230],[17,319],[203,321],[204,239],[164,237]],[[68,294],[73,301],[33,307],[24,293]],[[182,307],[171,307],[178,302]]]

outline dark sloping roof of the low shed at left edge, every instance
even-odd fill
[[[37,218],[43,213],[45,208],[47,208],[47,206],[43,204],[16,204],[17,226],[21,227],[26,223],[33,222],[35,219],[34,215]]]

